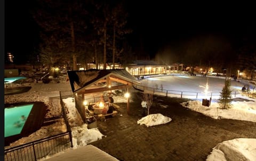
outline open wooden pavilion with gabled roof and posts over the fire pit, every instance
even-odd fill
[[[129,88],[133,84],[139,84],[135,77],[125,69],[89,69],[68,71],[68,79],[75,98],[75,107],[86,123],[85,106],[83,104],[85,95],[92,93],[114,91]],[[103,84],[103,85],[102,85]],[[127,99],[127,112],[129,111],[129,99]]]

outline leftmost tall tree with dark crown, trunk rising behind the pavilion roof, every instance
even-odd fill
[[[68,42],[66,48],[73,59],[73,70],[77,70],[77,35],[83,34],[87,27],[85,18],[87,11],[82,1],[37,1],[37,7],[31,10],[35,21],[48,35],[58,35],[58,39],[65,37]],[[56,48],[58,46],[55,46]],[[64,47],[62,47],[64,50]]]

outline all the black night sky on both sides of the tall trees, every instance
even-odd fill
[[[5,53],[28,54],[38,42],[38,29],[28,9],[31,3],[5,1]],[[165,46],[182,44],[189,38],[213,34],[237,43],[245,35],[255,35],[255,10],[252,4],[209,2],[175,4],[169,1],[127,1],[133,29],[128,37],[135,49],[152,58]],[[24,57],[25,58],[25,57]]]

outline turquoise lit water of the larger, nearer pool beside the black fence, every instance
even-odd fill
[[[26,104],[4,109],[4,137],[21,133],[34,104]],[[23,119],[21,116],[24,116]]]

